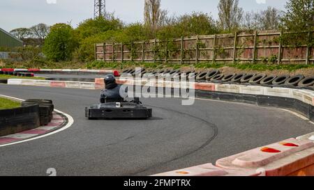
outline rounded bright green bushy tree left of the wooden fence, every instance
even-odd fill
[[[54,24],[45,40],[43,53],[52,61],[68,61],[77,46],[77,39],[70,25]]]

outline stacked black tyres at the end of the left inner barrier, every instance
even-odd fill
[[[29,106],[33,104],[39,105],[40,125],[48,125],[52,121],[52,112],[54,111],[54,104],[52,100],[25,100],[22,102],[22,106]]]

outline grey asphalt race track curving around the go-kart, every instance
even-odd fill
[[[84,107],[100,90],[0,85],[0,94],[45,98],[70,114],[72,127],[0,148],[0,175],[153,175],[313,132],[306,120],[280,109],[250,104],[147,99],[150,120],[87,120]]]

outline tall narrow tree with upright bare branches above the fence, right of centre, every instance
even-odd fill
[[[243,9],[239,8],[239,0],[220,0],[218,4],[219,25],[225,31],[239,28]]]

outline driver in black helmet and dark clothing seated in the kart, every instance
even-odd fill
[[[120,88],[113,74],[105,76],[105,90],[101,91],[100,103],[105,102],[121,102],[124,99],[120,95]]]

